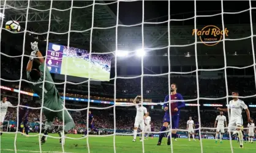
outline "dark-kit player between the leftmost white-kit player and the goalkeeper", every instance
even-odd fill
[[[28,109],[28,100],[24,98],[20,105],[24,105],[26,107],[20,107],[19,115],[18,115],[18,128],[20,132],[23,132],[23,128],[21,127],[21,123],[23,123],[23,126],[25,128],[26,135],[28,135],[28,115],[29,115],[29,109]]]

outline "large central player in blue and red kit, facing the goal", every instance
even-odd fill
[[[180,112],[179,110],[183,107],[185,107],[185,102],[183,100],[183,96],[181,96],[181,94],[176,93],[177,90],[177,85],[176,84],[171,84],[171,95],[167,95],[165,97],[165,103],[164,104],[164,110],[165,110],[165,116],[164,116],[164,121],[163,121],[163,126],[160,129],[160,132],[164,132],[165,130],[167,130],[167,127],[170,124],[171,121],[171,126],[172,126],[172,130],[171,133],[173,135],[173,137],[176,139],[176,130],[173,129],[178,129],[179,127],[179,115]],[[169,97],[171,98],[169,101]],[[179,100],[179,101],[177,101]],[[170,113],[169,113],[169,105],[171,107],[171,118],[170,118]],[[159,135],[159,140],[157,143],[157,146],[160,146],[162,143],[162,138],[164,137],[165,133],[160,133]],[[167,141],[167,145],[171,144],[171,140],[170,137],[168,137],[168,141]]]

